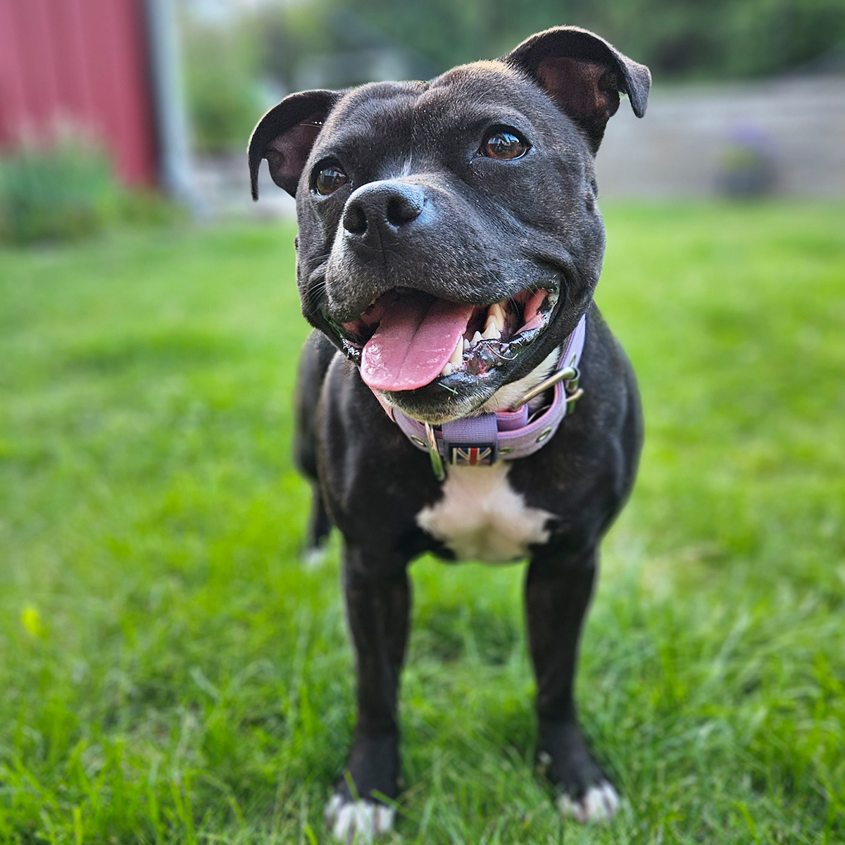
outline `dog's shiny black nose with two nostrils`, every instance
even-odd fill
[[[346,200],[343,228],[347,235],[363,242],[398,232],[417,220],[423,211],[425,193],[419,185],[386,179],[362,185]]]

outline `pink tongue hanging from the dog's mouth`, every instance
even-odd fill
[[[424,297],[397,300],[364,346],[361,377],[379,390],[423,387],[452,357],[470,317],[472,305]]]

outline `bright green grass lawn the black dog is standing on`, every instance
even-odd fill
[[[624,793],[532,772],[521,567],[413,567],[392,841],[845,840],[845,207],[614,206],[646,450],[579,699]],[[297,553],[290,228],[0,254],[0,842],[327,842],[337,545]],[[590,386],[585,385],[589,390]]]

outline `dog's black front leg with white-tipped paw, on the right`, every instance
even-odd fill
[[[537,765],[559,789],[564,815],[609,818],[619,796],[578,727],[573,685],[581,626],[596,575],[596,551],[540,553],[528,567],[526,614],[537,676]]]

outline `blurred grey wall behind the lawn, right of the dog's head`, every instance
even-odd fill
[[[645,118],[623,102],[608,124],[598,183],[604,197],[706,195],[755,163],[766,183],[748,193],[845,195],[845,77],[658,82]]]

